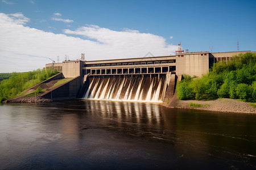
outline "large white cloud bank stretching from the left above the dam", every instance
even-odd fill
[[[64,29],[67,36],[25,27],[14,17],[24,18],[21,13],[0,13],[0,73],[42,68],[46,63],[51,63],[48,58],[60,56],[60,61],[63,61],[65,54],[69,59],[78,59],[81,53],[85,53],[85,59],[89,61],[143,57],[148,52],[154,56],[164,56],[174,54],[177,48],[176,45],[167,44],[161,36],[129,29],[113,31],[87,25],[76,30]],[[84,36],[85,39],[72,35]]]

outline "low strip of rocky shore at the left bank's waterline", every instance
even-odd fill
[[[44,102],[52,102],[52,100],[45,99],[43,97],[40,97],[39,95],[35,95],[35,96],[16,97],[13,99],[7,99],[3,101],[3,103],[44,103]]]

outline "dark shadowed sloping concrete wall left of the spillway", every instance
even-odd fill
[[[51,91],[47,92],[47,94],[42,95],[42,97],[53,101],[77,99],[83,78],[84,76],[77,76],[60,86],[56,86]]]

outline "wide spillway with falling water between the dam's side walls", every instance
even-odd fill
[[[89,76],[84,99],[121,101],[162,101],[165,75]]]

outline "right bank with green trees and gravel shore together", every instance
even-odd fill
[[[218,112],[256,113],[256,54],[233,56],[213,63],[201,78],[183,75],[175,96],[164,103],[170,108]]]

